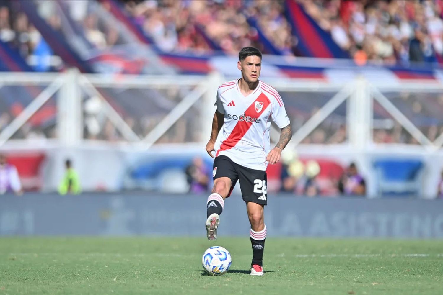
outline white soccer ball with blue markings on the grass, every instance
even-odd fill
[[[203,269],[210,275],[221,276],[231,267],[232,258],[229,251],[220,246],[206,249],[203,253]]]

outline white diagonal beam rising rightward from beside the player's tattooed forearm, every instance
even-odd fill
[[[320,108],[306,123],[303,124],[292,136],[288,146],[295,148],[314,129],[319,126],[353,91],[352,85],[348,84],[337,92],[322,108]]]

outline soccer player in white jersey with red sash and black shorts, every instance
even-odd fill
[[[266,167],[280,161],[281,152],[291,139],[291,126],[283,100],[270,85],[258,80],[261,52],[245,47],[238,54],[237,68],[241,79],[218,88],[217,110],[206,152],[215,151],[218,133],[220,142],[214,159],[214,188],[207,199],[206,232],[209,240],[217,239],[220,214],[233,187],[240,183],[246,202],[253,250],[251,275],[263,276],[263,249],[266,238],[264,205],[268,202]],[[281,129],[280,140],[270,150],[271,120]]]

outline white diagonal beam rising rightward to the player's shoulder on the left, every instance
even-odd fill
[[[207,90],[208,84],[202,83],[185,96],[142,140],[144,149],[149,149]]]

